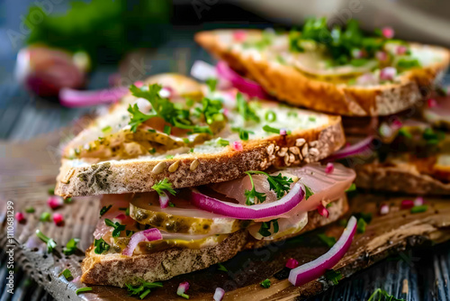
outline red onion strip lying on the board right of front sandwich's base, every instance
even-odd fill
[[[292,269],[289,273],[289,281],[294,286],[300,287],[305,283],[319,278],[325,274],[327,269],[333,269],[338,261],[344,257],[348,248],[350,248],[356,233],[356,223],[356,217],[350,217],[347,227],[338,242],[317,260],[312,260],[296,269]]]

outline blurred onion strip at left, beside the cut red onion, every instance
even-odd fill
[[[127,95],[128,92],[128,87],[85,91],[63,88],[59,91],[59,102],[67,107],[109,104]]]

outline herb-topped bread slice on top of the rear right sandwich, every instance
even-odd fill
[[[450,56],[442,47],[366,34],[355,20],[329,28],[312,18],[302,31],[199,32],[205,50],[275,98],[346,116],[397,114],[429,96]]]

